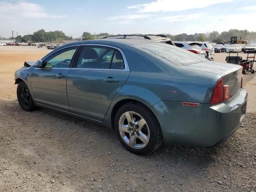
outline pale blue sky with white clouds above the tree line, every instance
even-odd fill
[[[256,0],[0,0],[0,36],[256,31]]]

